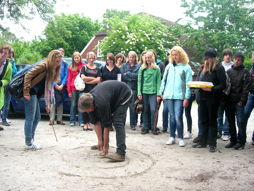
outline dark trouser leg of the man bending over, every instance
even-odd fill
[[[125,155],[126,150],[125,121],[128,106],[129,102],[125,105],[120,105],[113,113],[113,124],[116,130],[116,152],[120,155]]]

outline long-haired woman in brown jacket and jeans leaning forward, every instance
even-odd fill
[[[62,54],[59,50],[49,52],[45,62],[35,65],[24,77],[23,101],[25,105],[25,144],[30,150],[40,147],[34,144],[36,127],[40,121],[39,99],[44,95],[46,111],[50,112],[54,96],[53,82],[59,81]]]

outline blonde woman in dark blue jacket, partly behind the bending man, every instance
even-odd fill
[[[138,114],[134,109],[134,102],[137,99],[137,80],[138,70],[140,65],[138,64],[138,56],[134,51],[128,53],[128,61],[120,68],[122,73],[122,81],[128,84],[132,90],[132,99],[129,105],[130,110],[130,128],[136,130]]]

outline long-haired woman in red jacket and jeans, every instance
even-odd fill
[[[72,55],[72,63],[68,68],[68,80],[67,80],[67,91],[69,97],[71,98],[70,126],[74,126],[76,123],[76,112],[78,106],[78,98],[80,94],[80,92],[76,90],[74,86],[74,80],[83,66],[85,66],[85,63],[82,62],[80,53],[74,52]],[[81,112],[78,112],[78,121],[79,125],[83,127],[84,120]]]

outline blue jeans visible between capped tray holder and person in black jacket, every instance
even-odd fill
[[[218,132],[221,134],[223,132],[223,135],[229,135],[228,119],[227,117],[225,117],[225,122],[223,120],[224,111],[225,111],[225,103],[220,103],[220,106],[218,109],[218,118],[217,118]]]

